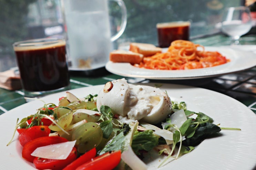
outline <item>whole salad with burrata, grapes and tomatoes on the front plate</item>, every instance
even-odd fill
[[[213,118],[187,110],[185,102],[171,101],[160,89],[135,86],[120,79],[107,82],[99,94],[83,99],[66,92],[58,105],[44,103],[35,114],[20,122],[18,119],[15,131],[20,133],[22,157],[34,162],[38,169],[69,167],[74,159],[82,159],[94,149],[92,162],[82,165],[83,168],[98,169],[97,164],[105,161],[110,167],[103,169],[144,170],[150,161],[148,155],[158,155],[161,159],[156,167],[162,167],[191,152],[204,139],[215,137],[222,129],[225,128],[213,124]],[[60,158],[51,155],[50,159],[47,153],[38,156],[34,154],[36,148],[69,141],[73,142],[72,159],[69,150],[64,163],[57,161],[59,168],[54,163],[46,167],[44,163],[42,167],[41,162]]]

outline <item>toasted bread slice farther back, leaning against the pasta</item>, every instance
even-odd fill
[[[156,53],[162,53],[162,48],[156,47],[153,44],[130,43],[130,51],[143,54],[143,56],[147,57]]]

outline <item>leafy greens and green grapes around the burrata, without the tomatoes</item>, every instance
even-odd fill
[[[158,167],[167,163],[170,157],[177,159],[187,154],[205,138],[221,131],[219,126],[213,124],[211,117],[201,112],[195,113],[187,110],[185,102],[172,101],[172,112],[162,124],[151,125],[138,121],[124,124],[116,118],[108,106],[102,105],[98,112],[95,104],[97,95],[88,95],[84,100],[70,96],[72,94],[68,93],[68,99],[62,98],[59,106],[53,103],[45,104],[38,109],[37,113],[23,118],[17,124],[17,128],[26,129],[43,125],[41,120],[47,117],[54,122],[49,125],[51,129],[49,136],[57,135],[70,141],[76,140],[75,147],[80,155],[93,147],[96,147],[98,154],[102,155],[113,150],[125,152],[130,146],[141,160],[147,152],[152,150],[158,152],[159,155],[165,155],[165,159]],[[186,117],[186,121],[180,127],[172,123],[171,115],[175,113],[184,114]],[[28,121],[30,124],[27,123]],[[84,126],[86,124],[84,122],[94,123],[100,128],[85,132],[84,129],[88,127]],[[168,137],[169,133],[155,134],[160,129],[163,133],[173,132],[172,139]],[[125,163],[119,163],[118,167],[120,166],[123,166],[122,169],[129,167]]]

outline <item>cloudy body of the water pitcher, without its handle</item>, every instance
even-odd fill
[[[96,1],[93,1],[93,7],[87,1],[84,7],[87,9],[83,8],[83,4],[75,2],[72,2],[73,6],[69,6],[69,9],[65,8],[69,55],[73,68],[102,67],[112,49],[107,4],[97,6]]]

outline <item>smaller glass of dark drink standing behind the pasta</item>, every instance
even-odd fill
[[[189,40],[190,22],[158,23],[156,28],[159,47],[169,47],[177,39]]]

